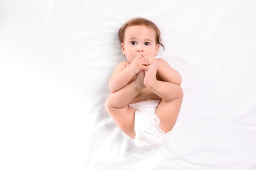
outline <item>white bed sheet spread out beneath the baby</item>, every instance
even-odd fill
[[[256,169],[256,2],[0,1],[0,169]],[[117,30],[161,29],[184,100],[171,140],[137,148],[104,109]]]

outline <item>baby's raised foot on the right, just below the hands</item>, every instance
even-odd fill
[[[145,71],[144,84],[147,88],[152,90],[156,85],[156,73],[158,71],[158,63],[148,65],[148,71]]]

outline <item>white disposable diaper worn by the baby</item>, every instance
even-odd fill
[[[135,139],[139,148],[154,148],[164,144],[170,137],[171,131],[165,133],[159,127],[160,119],[156,115],[156,107],[160,100],[144,101],[130,104],[135,109]]]

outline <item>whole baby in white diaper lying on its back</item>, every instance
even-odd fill
[[[181,75],[164,59],[156,59],[160,30],[150,20],[134,18],[118,31],[127,61],[109,80],[106,110],[117,126],[140,148],[154,148],[169,139],[183,98]]]

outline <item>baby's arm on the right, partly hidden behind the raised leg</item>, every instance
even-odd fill
[[[164,59],[158,58],[158,61],[158,75],[160,75],[165,82],[172,82],[181,86],[182,79],[180,73],[173,69]]]

